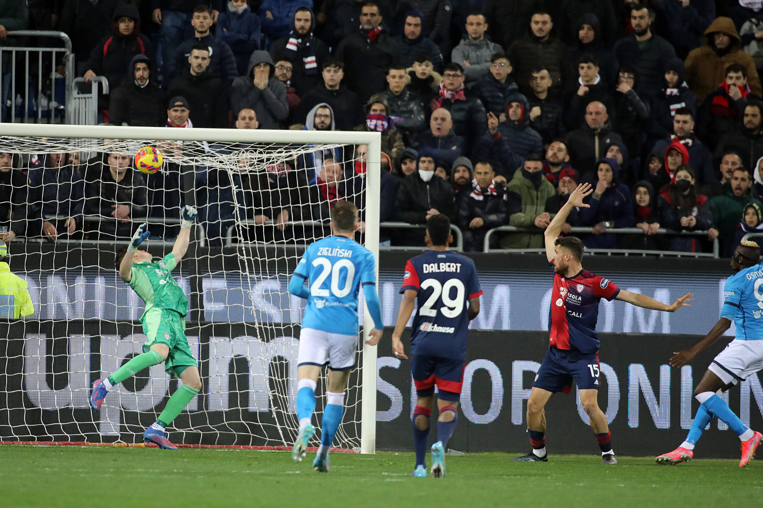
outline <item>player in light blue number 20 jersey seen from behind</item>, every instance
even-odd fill
[[[329,450],[342,422],[344,391],[349,371],[355,366],[358,346],[358,292],[363,288],[365,303],[374,321],[370,338],[374,346],[381,339],[381,305],[376,293],[375,260],[371,251],[353,240],[358,209],[340,201],[331,209],[333,235],[311,244],[289,280],[292,295],[307,299],[299,334],[299,389],[297,417],[299,434],[291,458],[301,462],[307,442],[315,433],[315,388],[320,369],[329,367],[327,404],[324,409],[320,448],[313,461],[315,471],[329,470]],[[307,286],[304,285],[307,280]]]

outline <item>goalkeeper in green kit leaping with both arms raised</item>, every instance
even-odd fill
[[[165,427],[175,420],[201,390],[198,363],[185,338],[188,299],[172,278],[172,270],[188,250],[188,239],[197,214],[193,206],[183,206],[180,212],[180,234],[172,252],[162,260],[153,261],[151,254],[137,250],[150,236],[148,224],[145,223],[137,228],[127,248],[117,252],[115,265],[119,276],[146,302],[146,311],[140,317],[140,322],[143,323],[143,332],[148,340],[143,344],[143,354],[130,359],[107,379],[94,382],[90,396],[92,407],[100,410],[103,399],[111,388],[146,367],[164,362],[167,373],[180,378],[182,385],[169,398],[156,423],[143,433],[143,441],[170,450],[177,449],[177,446],[167,439]]]

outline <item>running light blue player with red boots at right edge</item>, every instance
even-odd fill
[[[700,401],[700,408],[691,424],[689,435],[677,449],[658,456],[658,464],[689,462],[694,457],[697,439],[700,439],[713,416],[728,423],[742,441],[740,468],[745,467],[755,456],[755,449],[763,436],[742,423],[719,395],[763,369],[763,263],[760,263],[760,254],[760,247],[754,241],[742,241],[739,244],[731,257],[731,267],[736,273],[726,280],[723,288],[720,320],[694,347],[674,353],[670,359],[673,367],[686,365],[697,353],[710,347],[710,344],[726,333],[734,321],[736,337],[713,359],[702,381],[694,389],[694,398]]]

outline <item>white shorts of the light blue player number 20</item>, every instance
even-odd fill
[[[352,369],[357,349],[357,335],[332,334],[314,328],[302,328],[299,332],[300,366],[328,365],[332,370]]]

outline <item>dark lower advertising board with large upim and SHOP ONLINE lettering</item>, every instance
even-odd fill
[[[173,422],[170,439],[189,445],[290,445],[289,436],[278,432],[275,418],[295,417],[298,325],[189,323],[186,334],[201,360],[204,388]],[[410,353],[407,336],[406,331],[403,341]],[[390,337],[391,328],[387,328],[375,360],[376,443],[378,449],[409,451],[415,391],[410,362],[392,355]],[[691,366],[671,369],[667,363],[673,351],[698,339],[692,335],[601,335],[599,404],[619,455],[658,455],[684,439],[698,407],[691,391],[725,341],[700,353]],[[88,397],[101,369],[108,372],[124,363],[143,340],[137,321],[0,324],[0,364],[4,366],[0,440],[139,442],[143,428],[153,423],[175,389],[176,382],[162,366],[153,367],[150,378],[140,372],[125,382],[99,412],[90,409]],[[450,442],[452,449],[529,449],[526,399],[547,347],[548,333],[543,331],[470,332],[461,417]],[[258,360],[263,351],[269,363]],[[270,381],[263,385],[263,379]],[[359,389],[357,383],[350,386]],[[732,388],[726,398],[742,421],[754,429],[763,428],[763,387],[758,375]],[[354,400],[353,394],[349,400]],[[274,407],[283,413],[272,411]],[[552,397],[546,418],[549,453],[598,455],[575,388],[571,395]],[[435,434],[431,439],[436,439]],[[739,439],[725,424],[713,421],[695,457],[738,455]]]

